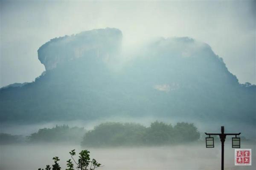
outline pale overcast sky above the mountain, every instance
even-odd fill
[[[0,1],[0,87],[45,70],[38,48],[54,37],[118,28],[124,46],[154,37],[209,44],[240,83],[256,84],[256,1]]]

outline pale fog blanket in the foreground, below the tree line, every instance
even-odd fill
[[[225,170],[255,170],[255,144],[244,143],[242,148],[252,149],[252,166],[234,166],[234,149],[225,144]],[[80,145],[20,144],[1,145],[1,170],[38,170],[52,165],[54,156],[60,158],[61,169],[66,168],[70,150],[77,155],[83,150],[90,151],[103,167],[98,170],[220,170],[221,146],[207,149],[204,142],[198,144],[163,147],[115,147],[84,148]],[[77,158],[77,155],[75,158]]]

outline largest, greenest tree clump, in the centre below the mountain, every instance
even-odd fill
[[[107,122],[84,135],[82,145],[93,147],[163,145],[197,141],[200,134],[193,124],[155,121],[150,127],[135,123]]]

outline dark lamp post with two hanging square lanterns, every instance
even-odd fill
[[[208,138],[205,138],[206,147],[213,148],[214,147],[214,138],[211,138],[211,135],[219,135],[221,139],[221,170],[224,170],[224,142],[227,135],[240,135],[241,133],[224,133],[224,126],[221,127],[221,133],[205,133],[209,135]],[[232,138],[232,147],[240,148],[240,138]]]

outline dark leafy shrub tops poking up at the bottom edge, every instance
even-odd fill
[[[99,164],[95,159],[90,160],[89,153],[90,153],[90,151],[88,151],[88,150],[81,150],[81,152],[79,153],[78,161],[75,161],[73,156],[76,155],[76,152],[75,152],[75,150],[70,151],[70,156],[73,159],[75,166],[77,166],[76,169],[78,169],[78,170],[95,170],[95,168],[100,167],[101,164]],[[46,165],[45,170],[61,170],[61,167],[58,164],[58,161],[60,161],[60,159],[57,156],[53,157],[52,159],[54,160],[54,164],[52,165],[52,168],[50,167],[50,165]],[[71,159],[67,160],[67,169],[66,170],[75,170],[73,161],[71,161]],[[44,169],[39,168],[38,170],[44,170]]]

